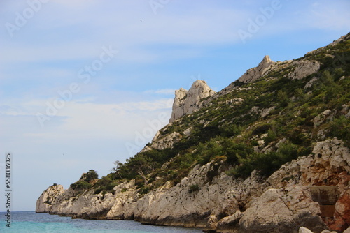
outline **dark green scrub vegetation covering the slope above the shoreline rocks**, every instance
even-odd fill
[[[160,130],[161,135],[181,134],[172,149],[151,149],[116,162],[111,174],[94,183],[95,193],[113,192],[114,186],[130,179],[135,179],[139,193],[148,193],[167,181],[176,185],[193,167],[211,161],[209,181],[218,174],[219,162],[232,179],[244,179],[253,170],[269,176],[284,163],[309,155],[320,140],[337,137],[349,146],[349,58],[350,40],[344,40],[297,59],[321,63],[317,73],[302,80],[288,79],[287,67],[253,83],[236,82],[230,93]],[[315,123],[325,110],[330,115]],[[190,135],[183,133],[187,129]],[[71,186],[92,188],[84,179]],[[197,190],[200,187],[193,185],[189,192]]]

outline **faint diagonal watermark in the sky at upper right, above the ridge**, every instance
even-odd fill
[[[288,1],[288,0],[287,0]],[[267,24],[269,20],[272,19],[274,13],[277,10],[281,10],[282,3],[279,0],[273,0],[270,6],[265,8],[260,7],[260,14],[255,17],[255,19],[248,18],[248,27],[246,30],[239,29],[238,35],[241,38],[242,43],[246,43],[246,39],[253,37],[255,33],[258,33],[262,27]]]

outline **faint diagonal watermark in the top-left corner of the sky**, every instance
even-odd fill
[[[34,17],[36,13],[43,7],[44,3],[48,3],[50,0],[27,0],[27,7],[21,12],[15,13],[15,19],[13,23],[6,22],[5,27],[8,35],[12,38],[15,31],[20,31],[22,27],[27,25],[28,21]]]

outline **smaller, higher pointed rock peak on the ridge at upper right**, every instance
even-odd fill
[[[269,68],[271,68],[274,61],[272,61],[268,55],[266,55],[262,61],[259,63],[257,67],[250,68],[249,70],[246,70],[246,73],[244,75],[241,75],[239,77],[239,82],[254,82],[255,80],[258,80],[260,77],[263,77],[267,74],[267,71]]]

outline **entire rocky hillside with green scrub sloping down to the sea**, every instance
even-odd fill
[[[293,61],[266,56],[217,93],[197,80],[176,91],[170,123],[142,151],[102,179],[90,170],[67,190],[50,186],[36,211],[213,232],[344,231],[349,58],[350,33]]]

